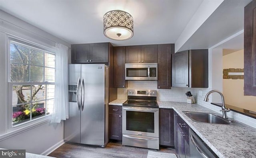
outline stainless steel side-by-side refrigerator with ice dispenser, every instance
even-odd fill
[[[69,119],[64,140],[104,147],[108,142],[108,67],[69,64]]]

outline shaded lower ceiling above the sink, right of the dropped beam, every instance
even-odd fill
[[[252,0],[224,0],[179,51],[208,49],[244,29],[244,6]],[[243,34],[218,48],[242,49]]]

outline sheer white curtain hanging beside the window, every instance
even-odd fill
[[[55,93],[51,123],[68,118],[68,47],[56,43]]]

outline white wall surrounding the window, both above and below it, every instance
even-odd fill
[[[55,43],[70,44],[0,10],[0,148],[26,149],[35,154],[49,154],[64,142],[64,125],[44,124],[29,129],[9,131],[7,128],[7,34],[54,49]]]

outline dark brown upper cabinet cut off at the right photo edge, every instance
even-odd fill
[[[256,0],[244,7],[244,95],[256,96]]]

